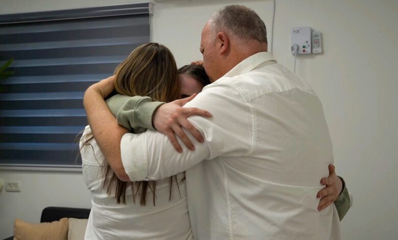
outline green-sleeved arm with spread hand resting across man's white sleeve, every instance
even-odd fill
[[[121,126],[134,133],[144,132],[146,129],[158,130],[167,135],[178,152],[182,152],[175,135],[180,137],[190,150],[194,150],[192,141],[182,128],[187,129],[197,141],[203,142],[203,136],[187,121],[187,117],[192,115],[211,116],[210,112],[202,109],[182,108],[195,95],[161,106],[164,104],[163,102],[152,102],[149,97],[129,97],[116,94],[107,100],[107,104],[112,114],[116,116],[117,123]],[[98,101],[102,100],[98,99]],[[154,118],[155,113],[156,118]]]

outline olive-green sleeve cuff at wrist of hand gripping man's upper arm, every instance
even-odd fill
[[[152,117],[158,107],[164,104],[163,102],[144,102],[142,101],[137,106],[137,111],[135,112],[135,121],[138,126],[156,130],[152,124]]]

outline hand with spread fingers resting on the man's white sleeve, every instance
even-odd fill
[[[188,149],[192,151],[195,150],[195,147],[193,146],[192,142],[189,140],[185,132],[182,130],[182,127],[187,129],[196,138],[196,140],[200,142],[204,141],[202,134],[197,131],[191,123],[188,122],[187,117],[192,115],[206,117],[211,116],[210,112],[202,109],[182,107],[186,103],[191,101],[195,97],[195,95],[196,94],[193,94],[189,98],[176,100],[171,103],[165,103],[156,110],[153,116],[154,127],[159,132],[166,134],[168,139],[171,141],[173,147],[180,153],[182,152],[182,148],[178,143],[175,134],[180,137],[180,139],[184,142]]]

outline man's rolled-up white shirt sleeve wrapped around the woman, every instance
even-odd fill
[[[213,84],[212,84],[213,85]],[[185,107],[197,107],[212,117],[189,117],[205,141],[190,151],[179,139],[183,153],[178,153],[167,136],[153,130],[140,134],[126,133],[120,143],[121,160],[131,181],[163,179],[183,172],[204,159],[218,156],[243,156],[252,148],[252,114],[235,89],[214,84],[198,94]]]

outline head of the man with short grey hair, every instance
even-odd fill
[[[216,54],[214,52],[216,50],[213,49],[215,46],[213,43],[218,39],[227,40],[228,53]],[[209,45],[206,53],[204,52],[205,44]],[[222,50],[225,49],[226,47]],[[257,13],[244,6],[232,5],[222,8],[213,14],[202,32],[203,66],[213,81],[228,73],[248,56],[266,51],[267,33],[264,22]],[[221,59],[215,60],[215,57]]]

